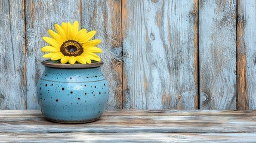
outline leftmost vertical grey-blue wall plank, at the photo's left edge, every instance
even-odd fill
[[[24,1],[0,1],[0,109],[26,108]]]

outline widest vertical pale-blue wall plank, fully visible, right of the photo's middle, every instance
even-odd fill
[[[122,1],[124,108],[197,108],[197,1]]]

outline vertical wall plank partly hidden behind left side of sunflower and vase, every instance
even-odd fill
[[[81,4],[76,0],[64,1],[26,1],[27,34],[27,109],[38,108],[36,84],[44,71],[41,65],[42,46],[47,45],[42,36],[49,36],[47,30],[54,29],[54,24],[80,21]]]

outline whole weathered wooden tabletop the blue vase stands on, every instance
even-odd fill
[[[107,110],[87,124],[0,110],[0,142],[256,142],[256,110]]]

